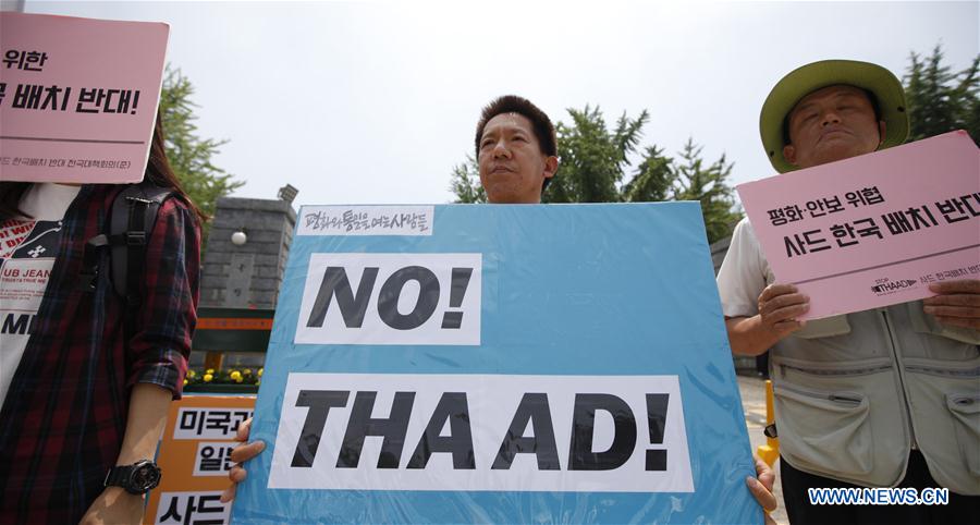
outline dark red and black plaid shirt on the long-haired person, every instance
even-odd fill
[[[24,356],[0,411],[0,523],[77,523],[102,492],[126,427],[130,389],[179,398],[197,321],[200,232],[180,198],[160,207],[147,244],[143,304],[125,344],[125,307],[108,249],[94,290],[79,286],[86,241],[106,231],[118,185],[83,186]]]

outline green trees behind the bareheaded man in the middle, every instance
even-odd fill
[[[638,151],[647,111],[635,119],[623,113],[610,130],[598,107],[569,109],[571,123],[555,125],[558,174],[542,195],[544,203],[649,203],[699,200],[713,243],[732,233],[742,218],[727,184],[732,163],[725,156],[705,166],[701,147],[688,139],[677,159],[656,145]],[[636,159],[636,167],[630,159]],[[479,167],[471,156],[453,168],[451,190],[457,203],[486,203]]]

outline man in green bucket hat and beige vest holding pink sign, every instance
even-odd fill
[[[814,62],[773,87],[759,127],[780,173],[825,164],[904,143],[905,93],[880,65]],[[809,298],[775,282],[744,219],[718,284],[732,351],[771,352],[792,523],[967,523],[980,515],[980,281],[946,281],[931,285],[938,295],[924,301],[805,322],[797,317]],[[863,487],[914,488],[891,493],[922,499],[923,489],[948,488],[950,500],[814,504],[808,490],[857,496]]]

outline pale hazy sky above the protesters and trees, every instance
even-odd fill
[[[786,73],[823,59],[905,74],[909,53],[980,53],[980,2],[51,2],[28,13],[170,24],[167,60],[194,84],[203,137],[233,195],[297,205],[441,204],[482,106],[517,94],[553,121],[646,109],[640,147],[688,137],[732,183],[774,174],[759,110]],[[561,176],[559,170],[558,176]]]

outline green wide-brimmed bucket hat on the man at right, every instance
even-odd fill
[[[785,173],[796,169],[783,158],[783,124],[786,115],[807,95],[838,84],[867,89],[878,99],[880,117],[885,122],[885,136],[880,149],[897,146],[908,137],[905,90],[891,71],[854,60],[813,62],[784,76],[762,103],[759,132],[762,134],[765,155],[776,171]]]

